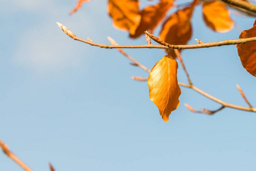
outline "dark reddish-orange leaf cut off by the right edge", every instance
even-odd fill
[[[243,30],[239,38],[251,38],[256,36],[256,20],[253,27]],[[251,75],[256,76],[256,42],[237,44],[237,51],[243,67]]]

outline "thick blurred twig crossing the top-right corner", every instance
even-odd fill
[[[252,13],[256,14],[256,6],[246,1],[241,1],[241,0],[220,0],[220,1],[235,7],[239,7],[241,9],[245,9],[247,11],[251,11]]]

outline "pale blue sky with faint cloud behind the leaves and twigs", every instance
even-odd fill
[[[155,2],[155,1],[153,1]],[[184,1],[185,2],[185,1]],[[145,5],[144,2],[141,4]],[[116,50],[91,47],[65,35],[60,22],[80,38],[145,44],[112,27],[107,1],[92,0],[74,15],[76,1],[3,1],[0,6],[0,139],[33,170],[255,170],[256,114],[226,108],[213,116],[192,113],[219,104],[181,88],[181,105],[164,123],[149,100],[148,74]],[[231,12],[236,25],[219,34],[193,15],[193,36],[204,42],[238,38],[254,18]],[[160,28],[155,31],[157,35]],[[125,50],[148,68],[162,50]],[[246,106],[235,84],[256,105],[256,80],[242,67],[235,46],[182,52],[198,88]],[[178,80],[186,83],[181,67]],[[0,170],[21,170],[1,154]]]

